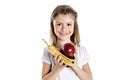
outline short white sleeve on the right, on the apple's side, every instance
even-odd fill
[[[89,62],[90,56],[85,47],[79,47],[78,63],[82,66]]]

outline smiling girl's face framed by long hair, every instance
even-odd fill
[[[59,14],[55,17],[53,24],[57,38],[62,41],[70,41],[74,31],[74,17],[71,14]]]

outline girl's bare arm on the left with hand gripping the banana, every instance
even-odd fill
[[[56,65],[52,71],[51,65],[43,62],[42,80],[54,80],[59,75],[60,71],[65,67],[60,56],[55,56],[54,60]]]

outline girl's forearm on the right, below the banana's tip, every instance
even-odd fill
[[[72,68],[76,75],[80,78],[80,80],[92,80],[92,77],[89,75],[89,73],[83,71],[80,67],[75,66]]]

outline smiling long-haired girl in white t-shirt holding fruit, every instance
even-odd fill
[[[63,49],[65,43],[76,46],[75,65],[67,67],[60,55],[51,55],[47,48],[43,53],[42,80],[92,80],[88,64],[89,55],[80,45],[77,12],[69,5],[57,6],[51,15],[51,44]]]

